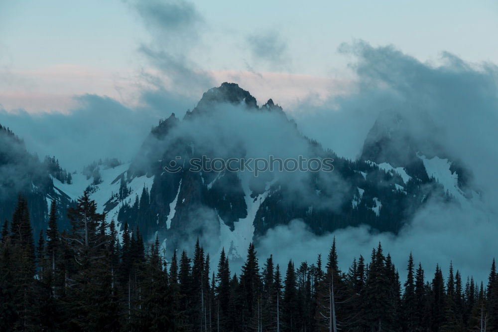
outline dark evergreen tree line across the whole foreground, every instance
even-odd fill
[[[19,197],[0,243],[0,331],[498,331],[498,280],[463,279],[450,264],[426,278],[410,254],[401,285],[381,244],[370,261],[338,266],[335,239],[322,264],[262,264],[253,244],[239,273],[222,250],[217,268],[197,241],[165,259],[158,238],[97,211],[87,191],[58,229],[52,201],[35,244]],[[216,265],[216,264],[213,264]]]

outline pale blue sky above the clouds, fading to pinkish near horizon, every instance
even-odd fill
[[[441,51],[470,62],[498,61],[498,2],[492,0],[219,0],[193,5],[201,21],[198,38],[178,38],[190,43],[185,52],[196,70],[217,72],[216,83],[233,77],[227,71],[283,72],[316,77],[316,87],[311,84],[307,91],[311,93],[323,85],[322,78],[347,79],[350,59],[337,48],[355,39],[374,46],[393,44],[422,61],[437,62]],[[136,73],[151,67],[137,51],[141,43],[164,42],[163,49],[179,53],[184,47],[174,40],[175,32],[164,39],[154,36],[142,18],[128,1],[1,0],[0,69],[11,77],[0,82],[0,104],[19,108],[25,99],[29,110],[36,110],[33,103],[42,110],[60,110],[69,107],[62,100],[72,94],[118,99],[117,85],[132,91]],[[276,40],[281,54],[258,57],[248,45],[250,36]],[[268,77],[264,75],[269,85],[278,80],[286,85],[274,91],[284,101],[302,85],[299,78],[292,88],[280,76]],[[241,80],[259,93],[254,80]],[[123,99],[131,102],[133,97]],[[61,102],[51,105],[50,100]]]

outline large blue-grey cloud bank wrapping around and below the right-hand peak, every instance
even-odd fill
[[[313,262],[317,251],[328,251],[335,235],[343,269],[359,254],[369,257],[382,241],[400,269],[412,251],[431,273],[436,263],[447,268],[453,260],[463,275],[473,273],[485,280],[498,252],[493,198],[498,194],[494,170],[498,163],[494,147],[498,140],[497,67],[469,64],[449,53],[443,53],[438,65],[422,63],[393,46],[373,47],[363,41],[344,44],[340,50],[356,58],[352,64],[357,75],[355,92],[329,99],[322,106],[303,103],[303,111],[295,114],[301,130],[339,155],[356,159],[378,115],[385,110],[400,113],[406,119],[407,135],[420,146],[434,141],[445,156],[470,168],[474,176],[469,186],[480,194],[474,193],[465,203],[430,200],[397,236],[367,227],[315,236],[295,221],[268,231],[260,241],[260,254],[276,252],[274,244],[278,243],[278,247],[291,248],[284,258],[278,258],[281,263],[291,257]],[[427,119],[438,132],[428,130]]]

